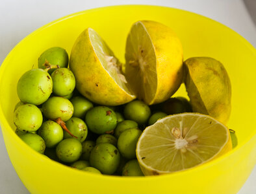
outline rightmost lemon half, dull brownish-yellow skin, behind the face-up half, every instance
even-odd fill
[[[227,124],[231,114],[231,82],[224,65],[214,58],[189,58],[184,62],[185,86],[193,112],[209,114]]]

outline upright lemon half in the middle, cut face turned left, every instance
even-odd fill
[[[181,41],[166,25],[138,21],[125,48],[125,77],[139,100],[160,103],[174,94],[183,77]]]

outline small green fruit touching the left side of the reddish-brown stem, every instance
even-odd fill
[[[44,139],[46,147],[55,147],[63,139],[63,130],[56,122],[47,120],[38,129],[38,135]]]

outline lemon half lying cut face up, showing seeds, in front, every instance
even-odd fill
[[[166,116],[140,136],[136,156],[144,175],[183,171],[232,149],[229,129],[211,116],[182,113]]]

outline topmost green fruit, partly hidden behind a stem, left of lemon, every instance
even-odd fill
[[[59,67],[68,67],[68,53],[64,48],[48,48],[38,58],[38,68],[45,69],[45,62],[51,65],[58,65]],[[49,72],[51,73],[53,70],[55,69],[51,69]]]

